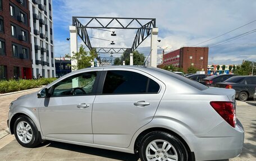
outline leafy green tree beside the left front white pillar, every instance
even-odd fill
[[[71,61],[76,61],[76,65],[72,65],[71,67],[74,68],[74,70],[90,67],[91,61],[94,61],[94,58],[97,58],[96,50],[93,49],[90,50],[90,52],[87,52],[83,45],[81,45],[79,52],[73,52],[73,56],[70,58]]]

